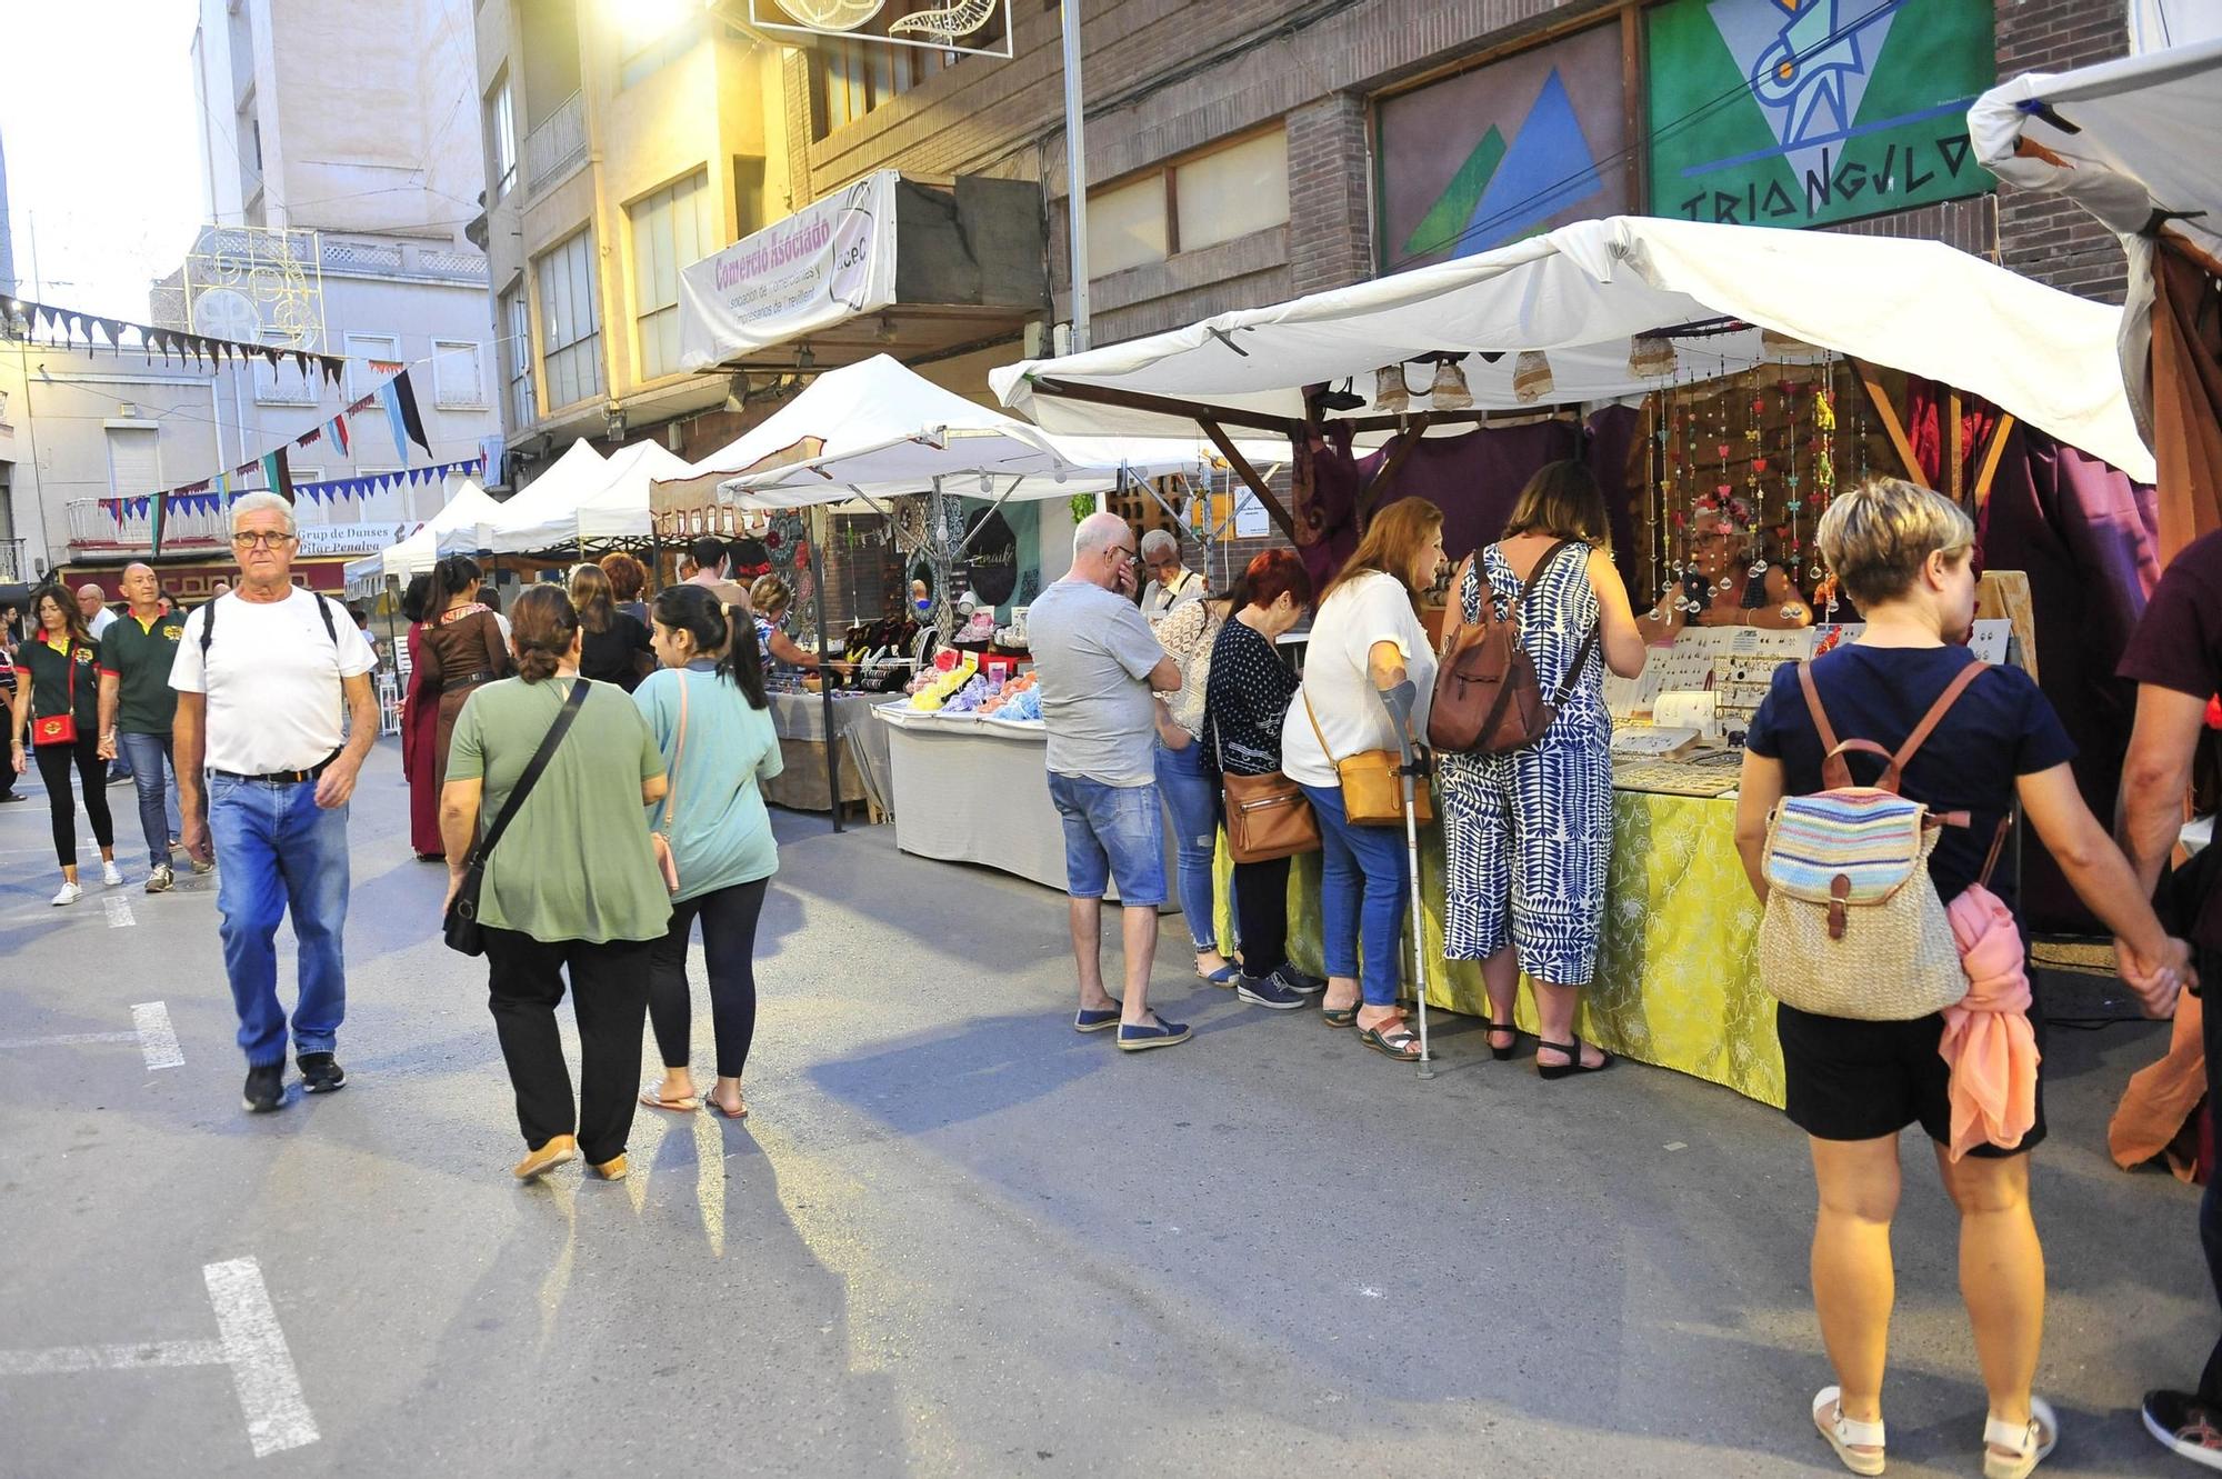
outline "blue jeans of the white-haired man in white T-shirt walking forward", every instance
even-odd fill
[[[347,808],[316,804],[316,782],[271,784],[209,777],[209,837],[222,868],[224,973],[240,1013],[240,1050],[253,1068],[284,1062],[278,1004],[278,919],[291,906],[300,939],[300,1002],[293,1050],[331,1053],[347,1015]]]

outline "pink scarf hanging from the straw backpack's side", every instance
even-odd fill
[[[1971,884],[1951,919],[1966,999],[1944,1008],[1938,1053],[1951,1068],[1951,1159],[1975,1146],[2013,1150],[2038,1121],[2038,1035],[2029,1028],[2029,975],[2013,910]]]

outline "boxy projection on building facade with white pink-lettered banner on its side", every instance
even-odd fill
[[[1042,189],[882,169],[680,271],[680,364],[824,369],[951,353],[1049,306]]]

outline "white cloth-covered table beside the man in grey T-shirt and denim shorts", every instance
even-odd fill
[[[887,737],[900,851],[984,864],[1064,893],[1064,819],[1049,799],[1040,724],[887,708],[873,708],[873,715]],[[1171,897],[1171,822],[1164,822],[1162,837],[1164,910],[1178,910],[1180,902]],[[1118,899],[1115,879],[1107,897]]]

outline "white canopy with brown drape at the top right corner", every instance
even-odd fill
[[[2222,524],[2222,435],[2198,349],[2162,298],[2166,253],[2186,302],[2193,278],[2222,273],[2222,40],[1993,87],[1966,113],[1975,158],[2006,184],[2066,195],[2111,227],[2129,253],[2118,378],[2158,455],[2162,557]],[[2158,304],[2158,306],[2155,306]],[[2155,344],[2155,331],[2160,342]],[[2195,335],[2189,335],[2195,338]],[[2098,451],[2098,449],[2086,449]],[[2102,453],[2104,455],[2104,453]],[[2124,466],[2115,460],[2118,466]],[[2151,480],[2149,475],[2140,473]]]

